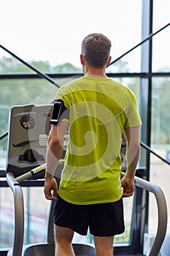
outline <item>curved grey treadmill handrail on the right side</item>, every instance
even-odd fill
[[[124,176],[125,173],[121,173],[121,176]],[[153,184],[149,181],[144,180],[143,178],[136,177],[134,178],[134,183],[136,187],[140,187],[142,189],[147,190],[148,192],[152,192],[155,195],[155,199],[158,206],[158,228],[155,236],[155,240],[152,244],[152,248],[150,250],[149,256],[158,255],[160,252],[161,246],[163,244],[163,240],[166,236],[167,229],[167,205],[166,198],[163,194],[161,187],[156,184]]]

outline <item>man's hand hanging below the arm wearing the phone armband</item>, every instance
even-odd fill
[[[58,184],[53,176],[45,179],[44,193],[48,200],[58,200]]]

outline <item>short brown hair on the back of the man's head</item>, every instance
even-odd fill
[[[112,44],[104,34],[88,34],[82,40],[82,55],[92,67],[100,68],[107,64]]]

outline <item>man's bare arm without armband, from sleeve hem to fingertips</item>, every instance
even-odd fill
[[[129,197],[134,194],[134,176],[140,153],[140,127],[126,128],[124,134],[127,140],[127,170],[121,184],[123,197]]]

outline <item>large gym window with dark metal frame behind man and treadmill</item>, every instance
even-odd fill
[[[153,7],[152,12],[150,7]],[[139,44],[141,38],[168,24],[169,8],[169,0],[7,0],[1,4],[1,45],[39,72],[47,73],[56,85],[39,78],[35,70],[0,48],[0,135],[3,135],[0,140],[0,250],[4,246],[12,246],[14,227],[12,192],[4,184],[10,108],[13,105],[50,103],[58,86],[81,76],[81,42],[86,35],[101,32],[109,37],[114,61]],[[110,65],[107,74],[134,91],[142,113],[143,142],[149,143],[152,150],[170,162],[169,39],[170,26],[167,26],[152,37],[152,43],[151,40],[144,42],[144,45]],[[161,186],[169,207],[169,165],[153,154],[147,161],[146,153],[142,148],[140,164],[149,173],[147,177],[150,181]],[[44,242],[47,238],[50,203],[45,200],[42,190],[42,187],[23,187],[25,244]],[[134,197],[124,200],[125,233],[115,238],[117,244],[131,244],[137,225],[140,230],[137,230],[136,239],[142,241],[138,219],[142,213],[136,209],[139,194],[135,203]],[[150,196],[148,232],[153,234],[156,232],[155,222],[158,221],[155,209],[155,200]],[[133,213],[136,213],[135,221],[131,218]],[[136,227],[132,227],[133,221]],[[85,238],[76,235],[74,241],[93,242],[89,234]]]

